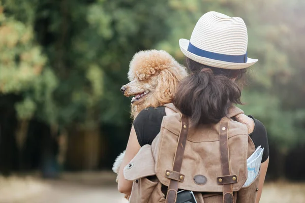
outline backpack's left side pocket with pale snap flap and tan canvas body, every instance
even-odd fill
[[[164,196],[155,173],[155,159],[150,145],[141,147],[137,155],[125,166],[124,177],[133,181],[129,202],[163,202]]]

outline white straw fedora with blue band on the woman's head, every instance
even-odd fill
[[[222,69],[245,69],[258,59],[248,58],[248,33],[238,17],[211,11],[197,22],[191,40],[180,39],[181,51],[199,63]]]

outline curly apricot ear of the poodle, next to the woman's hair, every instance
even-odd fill
[[[160,105],[172,103],[180,77],[173,69],[164,69],[157,78],[156,97]]]

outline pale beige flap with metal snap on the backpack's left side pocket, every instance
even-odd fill
[[[154,175],[156,175],[155,159],[151,152],[151,146],[144,145],[136,156],[125,166],[124,177],[126,180],[134,181]]]

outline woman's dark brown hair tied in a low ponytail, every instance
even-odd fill
[[[242,104],[240,89],[232,79],[242,78],[245,69],[220,69],[190,58],[187,66],[191,74],[180,82],[173,104],[192,124],[218,123],[232,104]]]

